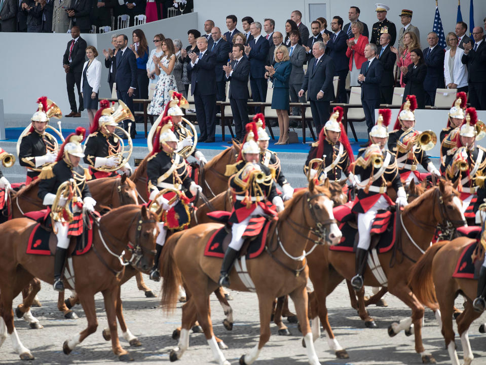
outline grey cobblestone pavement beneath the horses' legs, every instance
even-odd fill
[[[158,292],[158,283],[148,280],[146,283]],[[370,293],[370,290],[367,289]],[[237,364],[239,357],[247,353],[258,341],[259,324],[258,309],[255,294],[231,292],[234,300],[230,302],[234,310],[235,325],[233,331],[228,332],[222,326],[224,317],[216,298],[211,297],[212,319],[214,332],[229,346],[223,350],[226,358]],[[71,364],[71,363],[107,363],[118,361],[111,352],[110,342],[105,342],[101,331],[106,324],[106,316],[101,295],[96,296],[96,312],[98,315],[98,330],[78,345],[71,354],[62,352],[62,343],[69,337],[79,333],[86,327],[86,318],[81,307],[77,313],[77,320],[64,319],[62,313],[56,309],[57,293],[50,285],[43,283],[39,297],[43,306],[33,308],[32,314],[44,325],[44,329],[31,330],[22,319],[15,319],[18,334],[24,346],[30,349],[35,359],[32,364]],[[130,348],[127,341],[121,339],[121,344],[129,350],[134,361],[132,363],[161,364],[169,362],[169,351],[176,345],[171,334],[180,324],[181,304],[178,304],[174,313],[166,316],[158,308],[157,298],[147,299],[136,288],[135,279],[131,279],[122,287],[124,315],[130,331],[139,338],[141,347]],[[327,305],[329,319],[341,346],[347,349],[350,358],[336,359],[329,350],[325,336],[315,342],[316,351],[322,364],[419,364],[420,356],[414,349],[414,337],[406,337],[403,332],[390,338],[387,327],[396,321],[410,315],[410,311],[398,299],[387,294],[385,296],[389,306],[378,308],[370,306],[369,312],[375,317],[378,329],[365,329],[350,305],[346,284],[341,283],[329,296]],[[14,305],[20,303],[16,298]],[[462,298],[456,300],[456,307],[462,308]],[[293,305],[290,304],[290,309]],[[475,359],[474,364],[486,363],[486,335],[478,332],[478,326],[486,320],[482,315],[470,328],[469,338]],[[301,345],[302,337],[295,324],[288,324],[292,336],[277,335],[277,327],[272,324],[272,337],[255,364],[305,364],[307,356]],[[455,331],[457,332],[456,325]],[[120,333],[120,331],[119,331]],[[433,313],[426,310],[423,339],[426,351],[430,351],[437,363],[448,364],[450,360],[444,349],[444,341],[440,334]],[[459,358],[462,358],[462,346],[456,338]],[[20,363],[18,355],[13,351],[8,338],[0,349],[0,364]],[[185,352],[180,364],[206,364],[215,363],[211,350],[202,334],[191,334],[190,347]]]

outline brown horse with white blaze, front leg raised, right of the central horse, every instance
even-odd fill
[[[438,187],[428,190],[404,208],[401,213],[402,223],[397,232],[395,248],[378,256],[388,280],[387,285],[380,283],[369,267],[364,275],[365,285],[387,286],[391,294],[412,309],[412,317],[390,325],[388,334],[393,337],[401,330],[414,332],[415,349],[420,353],[423,362],[435,360],[424,351],[421,335],[424,307],[407,286],[407,274],[430,245],[438,225],[459,227],[465,224],[460,206],[461,201],[451,182],[440,180]],[[307,249],[310,248],[308,245]],[[343,354],[346,354],[346,357],[346,351],[339,345],[332,333],[327,317],[326,297],[343,279],[350,280],[355,275],[355,254],[346,251],[332,251],[326,246],[318,246],[307,256],[307,259],[309,260],[309,276],[314,284],[318,302],[318,318],[312,321],[314,340],[319,337],[318,319],[320,319],[327,332],[327,341],[331,349],[336,352],[338,357],[343,357]],[[364,302],[359,304],[359,309],[361,318],[366,318]],[[410,329],[412,324],[414,331]]]

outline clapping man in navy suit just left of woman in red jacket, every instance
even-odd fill
[[[346,95],[345,84],[349,71],[349,58],[346,57],[346,49],[348,48],[346,41],[348,40],[348,36],[342,30],[343,18],[340,16],[333,17],[331,29],[334,34],[330,36],[324,34],[322,35],[322,39],[326,45],[326,54],[334,61],[334,76],[339,77],[338,102],[346,103],[348,102],[348,97]]]

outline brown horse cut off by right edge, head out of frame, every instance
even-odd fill
[[[481,239],[486,239],[484,230]],[[459,293],[467,298],[464,312],[456,319],[466,365],[469,365],[474,358],[469,344],[469,326],[482,314],[472,307],[472,301],[476,298],[477,280],[453,277],[463,249],[474,241],[467,237],[459,237],[452,241],[435,243],[425,252],[410,274],[410,286],[417,299],[427,307],[436,310],[435,316],[453,365],[460,364],[452,324],[454,300]]]

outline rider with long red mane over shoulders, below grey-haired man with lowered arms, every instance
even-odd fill
[[[343,108],[334,107],[329,120],[319,133],[319,140],[312,143],[309,155],[307,155],[306,167],[309,166],[312,159],[320,158],[324,161],[322,173],[317,176],[318,181],[324,181],[326,177],[330,181],[345,178],[349,173],[349,165],[354,161],[353,150],[341,123],[342,119]],[[314,177],[318,166],[311,166],[311,169],[310,177]]]

